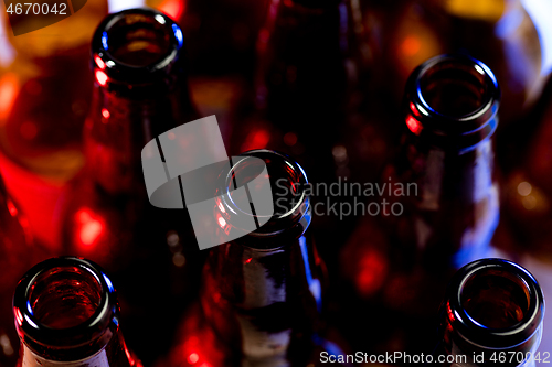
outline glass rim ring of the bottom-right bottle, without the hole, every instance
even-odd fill
[[[529,304],[523,319],[503,328],[485,326],[463,306],[461,295],[468,280],[478,272],[501,270],[521,281]],[[544,317],[544,296],[537,279],[523,267],[505,259],[481,259],[463,267],[448,285],[446,301],[448,322],[466,341],[487,348],[511,348],[523,344],[538,331]]]

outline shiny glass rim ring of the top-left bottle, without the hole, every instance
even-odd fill
[[[109,50],[109,32],[125,18],[132,19],[135,15],[146,15],[166,28],[169,36],[169,46],[164,56],[144,66],[126,64],[115,57]],[[125,82],[130,84],[149,84],[159,74],[169,74],[180,57],[183,48],[183,34],[180,26],[167,14],[150,8],[134,8],[108,14],[99,23],[92,39],[92,66],[95,78],[99,85],[117,84]]]

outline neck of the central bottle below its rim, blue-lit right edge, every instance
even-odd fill
[[[295,360],[310,356],[320,331],[320,259],[306,236],[274,250],[237,242],[215,248],[204,269],[208,322],[234,358]]]

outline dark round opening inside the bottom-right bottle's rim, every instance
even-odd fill
[[[464,285],[460,302],[469,317],[489,328],[519,324],[529,311],[529,288],[518,277],[501,270],[474,273]]]

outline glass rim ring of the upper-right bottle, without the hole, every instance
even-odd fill
[[[424,91],[424,82],[435,72],[447,68],[461,71],[477,78],[478,85],[474,87],[482,90],[478,108],[450,115],[431,106]],[[492,71],[479,60],[464,54],[444,54],[429,58],[411,74],[405,90],[404,110],[408,130],[436,144],[469,151],[497,129],[500,87]]]

